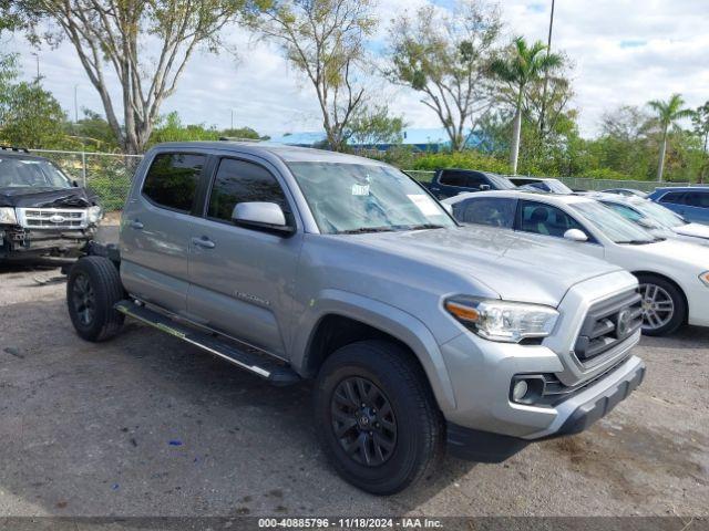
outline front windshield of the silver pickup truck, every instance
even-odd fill
[[[443,207],[409,176],[387,166],[290,163],[322,233],[454,227]]]

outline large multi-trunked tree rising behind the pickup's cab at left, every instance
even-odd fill
[[[130,154],[144,149],[161,105],[175,92],[195,49],[216,52],[219,30],[255,9],[250,0],[0,0],[0,18],[23,29],[35,45],[55,45],[61,39],[73,44],[111,128]],[[42,33],[52,24],[55,31]],[[155,61],[145,53],[147,41],[151,49],[157,45]],[[106,65],[120,82],[120,101],[110,92]]]

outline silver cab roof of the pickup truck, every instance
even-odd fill
[[[271,155],[284,163],[339,163],[367,164],[371,166],[387,166],[384,163],[371,158],[347,155],[343,153],[314,149],[310,147],[287,146],[268,142],[168,142],[155,146],[157,149],[209,149],[234,152],[249,155]]]

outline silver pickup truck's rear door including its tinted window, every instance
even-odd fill
[[[186,306],[195,197],[206,164],[199,153],[158,153],[121,218],[123,285],[175,313]]]

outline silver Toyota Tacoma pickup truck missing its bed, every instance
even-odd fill
[[[277,385],[314,381],[337,471],[377,494],[448,448],[499,462],[576,434],[643,381],[637,280],[553,244],[463,228],[366,158],[179,143],[137,169],[117,247],[69,272],[79,335],[127,315]]]

